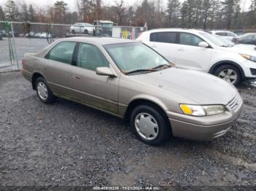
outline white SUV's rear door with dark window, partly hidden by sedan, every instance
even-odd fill
[[[145,42],[171,63],[176,63],[177,50],[177,33],[176,32],[156,32],[150,34],[150,42]]]

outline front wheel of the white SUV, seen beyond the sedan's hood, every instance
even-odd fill
[[[221,79],[224,79],[227,82],[230,82],[233,85],[238,85],[241,82],[241,72],[239,71],[239,69],[236,68],[236,66],[219,66],[216,71],[214,71],[214,75]]]

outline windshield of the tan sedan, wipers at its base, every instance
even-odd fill
[[[124,73],[169,65],[165,58],[140,42],[109,44],[105,49]]]

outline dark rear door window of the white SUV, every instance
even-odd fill
[[[150,35],[151,42],[176,43],[176,33],[162,32]]]

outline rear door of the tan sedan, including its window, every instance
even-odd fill
[[[56,94],[69,94],[76,42],[60,42],[40,61],[40,70]]]

